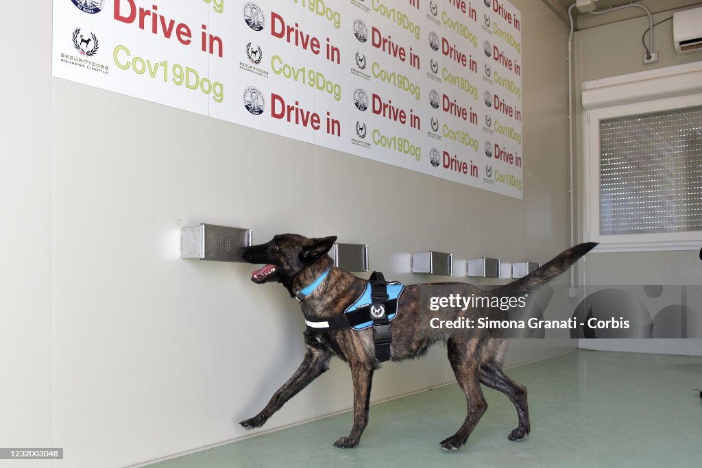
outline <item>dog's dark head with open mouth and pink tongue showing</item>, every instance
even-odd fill
[[[265,264],[251,274],[254,283],[277,281],[290,289],[295,277],[324,258],[334,242],[336,236],[307,239],[298,234],[279,234],[267,243],[242,248],[241,257],[249,263]]]

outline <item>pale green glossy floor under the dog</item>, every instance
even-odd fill
[[[232,467],[700,467],[702,357],[578,351],[506,372],[529,389],[531,436],[510,442],[514,406],[485,389],[489,408],[466,446],[439,441],[458,429],[465,399],[449,385],[371,406],[358,448],[344,413],[152,468]]]

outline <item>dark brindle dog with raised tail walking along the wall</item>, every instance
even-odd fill
[[[242,258],[249,263],[265,264],[251,275],[254,283],[276,281],[288,290],[291,297],[298,297],[307,318],[329,318],[343,314],[366,288],[366,280],[342,269],[333,267],[327,253],[336,242],[336,236],[308,239],[297,234],[282,234],[264,244],[244,247]],[[524,276],[489,292],[491,295],[528,293],[562,274],[578,258],[594,248],[597,243],[582,243],[565,250],[553,260]],[[329,272],[324,276],[324,272]],[[300,299],[300,291],[323,278],[309,295]],[[444,439],[440,445],[445,450],[463,446],[487,408],[480,384],[496,389],[512,401],[517,409],[519,427],[510,432],[508,439],[524,439],[531,430],[527,389],[512,381],[502,371],[506,340],[490,333],[441,333],[430,328],[426,316],[420,314],[420,295],[423,288],[449,287],[463,297],[484,295],[485,290],[468,283],[427,283],[406,286],[399,300],[398,312],[391,323],[392,342],[390,359],[402,361],[423,356],[430,345],[445,341],[451,368],[456,374],[468,402],[468,415],[456,434]],[[463,316],[499,316],[501,311],[468,309]],[[502,314],[504,315],[504,314]],[[434,333],[434,335],[432,335]],[[443,333],[443,335],[442,335]],[[261,427],[286,401],[298,394],[315,378],[329,368],[329,360],[337,356],[346,361],[353,378],[353,425],[348,436],[338,439],[334,446],[354,448],[368,424],[368,409],[373,372],[379,367],[373,342],[373,328],[354,330],[315,330],[308,327],[304,333],[305,358],[285,384],[272,396],[265,408],[256,416],[241,421],[246,429]]]

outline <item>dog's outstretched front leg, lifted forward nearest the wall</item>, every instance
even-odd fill
[[[305,359],[300,363],[298,370],[296,370],[292,377],[273,394],[265,408],[263,408],[258,415],[248,420],[241,421],[239,424],[246,429],[263,426],[273,413],[282,408],[286,401],[298,394],[300,390],[310,385],[312,380],[329,369],[329,359],[330,356],[319,349],[307,347]]]

